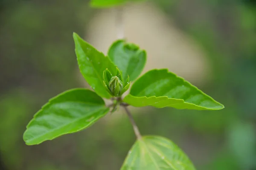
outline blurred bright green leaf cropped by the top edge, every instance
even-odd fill
[[[91,0],[90,6],[96,7],[96,8],[113,7],[113,6],[124,5],[129,1],[136,2],[136,1],[145,1],[145,0]]]

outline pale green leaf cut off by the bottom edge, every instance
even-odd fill
[[[169,139],[144,136],[128,152],[121,170],[195,170],[195,167]]]

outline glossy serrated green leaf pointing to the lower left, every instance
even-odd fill
[[[71,89],[50,99],[29,122],[23,139],[27,145],[40,144],[58,136],[89,127],[109,108],[104,100],[88,89]]]

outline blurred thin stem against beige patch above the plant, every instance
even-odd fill
[[[124,7],[119,6],[116,8],[116,34],[118,39],[124,38],[124,23],[123,23]]]

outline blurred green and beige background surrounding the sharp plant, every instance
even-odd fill
[[[115,9],[88,0],[0,0],[0,170],[118,170],[135,141],[122,110],[40,145],[22,136],[49,98],[88,87],[73,31],[106,53]],[[256,170],[256,0],[149,0],[124,8],[125,37],[225,105],[131,108],[142,134],[172,139],[198,170]]]

